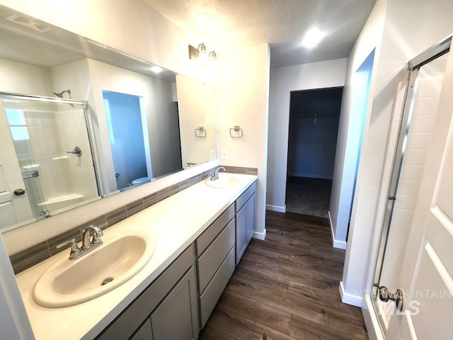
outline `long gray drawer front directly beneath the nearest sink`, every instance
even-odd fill
[[[191,244],[96,339],[129,339],[184,273],[193,266],[194,253],[195,251]]]

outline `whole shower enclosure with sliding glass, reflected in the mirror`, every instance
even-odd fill
[[[86,102],[0,93],[0,230],[99,197]]]

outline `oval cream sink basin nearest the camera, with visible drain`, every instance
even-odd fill
[[[147,234],[108,234],[104,244],[80,259],[69,249],[38,279],[33,299],[43,307],[67,307],[92,300],[117,288],[148,263],[155,245]]]

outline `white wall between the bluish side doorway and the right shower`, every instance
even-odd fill
[[[357,176],[343,280],[343,301],[362,305],[374,275],[377,244],[382,229],[381,195],[387,137],[392,113],[398,112],[400,82],[407,62],[453,31],[452,1],[378,0],[350,55],[346,86],[365,57],[377,45],[369,111]],[[383,28],[383,30],[382,30]],[[382,32],[382,39],[379,38]],[[350,99],[348,100],[350,102]],[[342,112],[343,114],[343,112]],[[378,199],[379,198],[379,199]],[[408,245],[409,246],[409,245]],[[365,309],[369,308],[365,305]],[[367,326],[372,324],[367,319]]]

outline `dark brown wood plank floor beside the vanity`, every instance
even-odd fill
[[[328,220],[268,212],[265,241],[252,239],[202,340],[368,339],[360,308],[340,300],[345,251]]]

